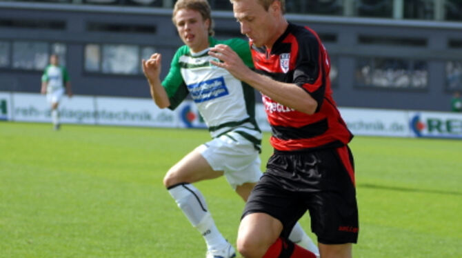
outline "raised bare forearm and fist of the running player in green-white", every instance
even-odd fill
[[[142,60],[143,73],[148,79],[151,97],[159,108],[168,108],[170,100],[167,92],[161,84],[161,61],[162,55],[159,53],[152,54],[150,59]]]

